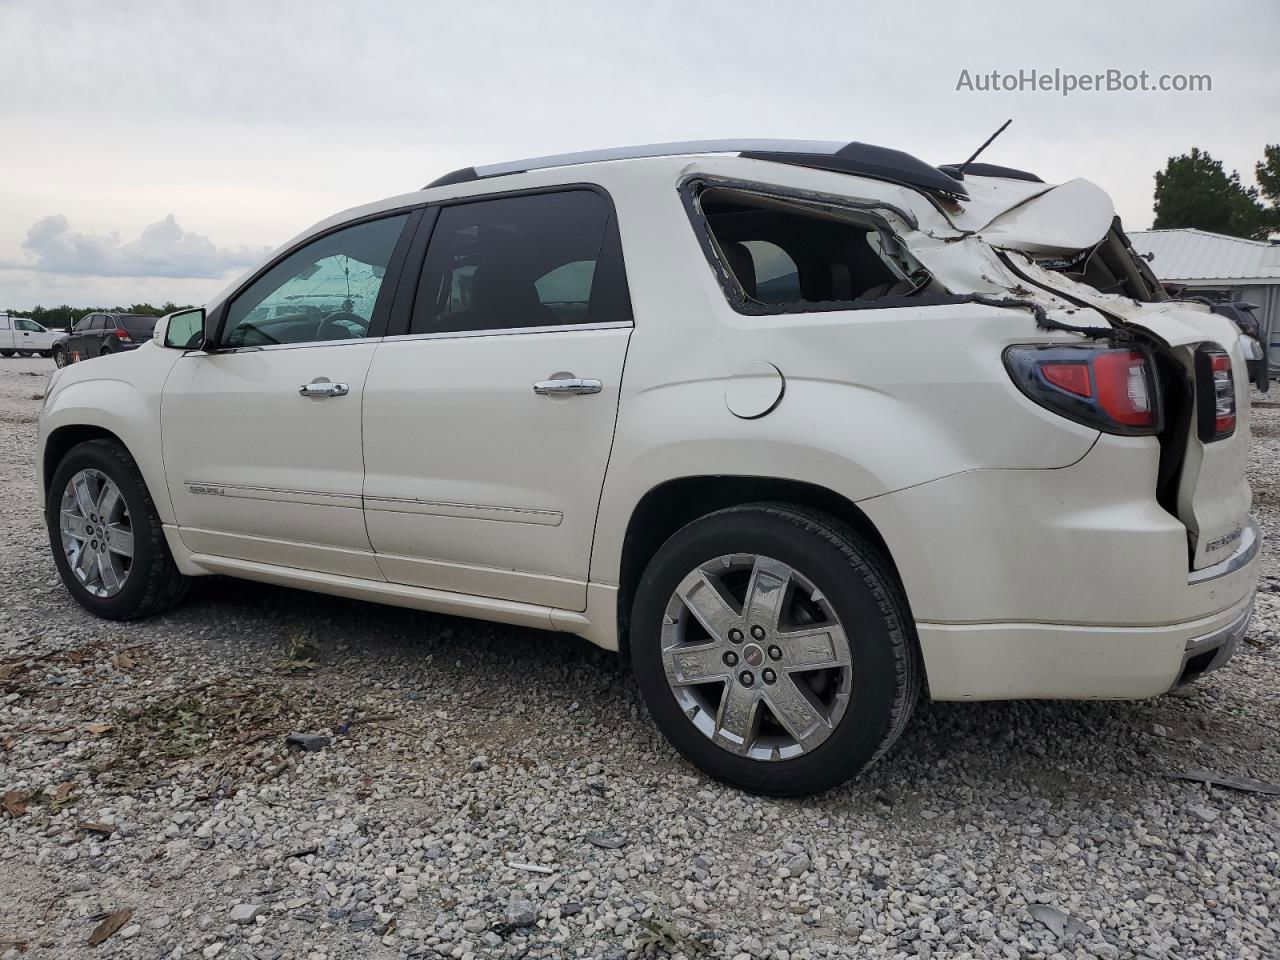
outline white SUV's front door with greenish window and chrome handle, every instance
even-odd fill
[[[230,300],[218,348],[174,366],[164,463],[195,553],[381,579],[361,511],[361,402],[407,220],[344,227],[276,261]]]

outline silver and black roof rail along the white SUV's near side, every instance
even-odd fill
[[[581,154],[557,154],[529,160],[515,160],[506,164],[485,166],[463,166],[447,173],[426,184],[445,187],[452,183],[467,183],[486,177],[504,177],[513,173],[527,173],[550,166],[571,166],[594,164],[604,160],[636,160],[649,156],[678,156],[681,154],[736,154],[751,160],[771,160],[780,164],[808,166],[818,170],[833,170],[859,177],[870,177],[905,187],[968,197],[964,183],[954,173],[931,166],[910,154],[872,143],[841,143],[823,140],[696,140],[677,143],[646,143],[634,147],[613,147],[611,150],[591,150]],[[978,166],[970,164],[969,170],[978,173]],[[1001,168],[1002,169],[1002,168]],[[1029,175],[1029,174],[1028,174]]]

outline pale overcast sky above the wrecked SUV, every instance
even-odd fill
[[[713,137],[861,140],[1103,186],[1280,141],[1280,3],[0,0],[0,308],[204,302],[343,207],[475,163]],[[1211,92],[966,92],[1020,69]]]

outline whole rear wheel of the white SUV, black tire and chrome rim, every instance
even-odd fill
[[[658,550],[631,660],[658,727],[727,783],[833,787],[899,737],[920,690],[906,603],[877,550],[833,517],[732,507]]]

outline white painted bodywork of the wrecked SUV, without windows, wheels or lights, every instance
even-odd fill
[[[1050,184],[969,178],[972,201],[943,209],[891,183],[732,156],[439,187],[339,214],[302,237],[412,204],[598,184],[617,211],[635,329],[215,357],[147,344],[60,371],[41,443],[79,424],[118,435],[156,494],[184,572],[550,627],[607,648],[618,644],[623,545],[646,494],[699,476],[818,485],[856,504],[884,540],[940,698],[1158,692],[1185,641],[1248,603],[1256,559],[1188,582],[1188,527],[1155,499],[1153,438],[1101,436],[1011,383],[1006,346],[1075,335],[1038,329],[1028,310],[979,303],[737,314],[677,192],[692,174],[881,205],[960,293],[1007,297],[1021,284],[975,232],[989,227],[991,242],[1043,251],[1102,221],[1089,186],[1053,196]],[[1078,216],[1064,209],[1071,197],[1087,200]],[[1055,292],[1019,296],[1061,321],[1111,317],[1187,349],[1235,348],[1225,321],[1203,311],[1047,279]],[[759,362],[780,371],[782,398],[764,416],[736,416],[726,398]],[[570,372],[600,379],[602,393],[532,393],[535,380]],[[316,376],[352,393],[298,397]],[[1243,413],[1243,388],[1239,401]],[[1219,451],[1213,463],[1204,453],[1201,476],[1211,479],[1192,504],[1208,524],[1248,508],[1243,447]],[[192,493],[188,481],[237,495]]]

